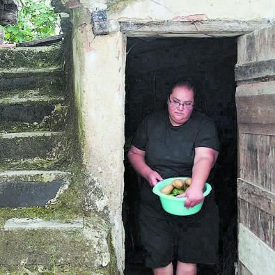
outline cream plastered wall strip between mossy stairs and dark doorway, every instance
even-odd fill
[[[74,88],[88,172],[86,212],[111,221],[112,244],[122,274],[125,40],[122,33],[93,36],[90,22],[84,8],[74,10]]]

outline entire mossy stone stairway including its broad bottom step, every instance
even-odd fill
[[[64,47],[0,49],[0,274],[116,274],[109,223],[81,209]]]

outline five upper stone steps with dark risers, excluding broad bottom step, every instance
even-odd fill
[[[45,207],[70,177],[62,42],[0,58],[0,207]]]

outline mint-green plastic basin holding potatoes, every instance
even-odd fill
[[[168,184],[171,184],[173,180],[175,179],[180,179],[180,180],[185,180],[187,178],[168,178],[166,180],[162,180],[161,182],[158,182],[155,187],[152,189],[153,193],[159,196],[160,202],[162,203],[163,209],[174,215],[178,216],[188,216],[197,213],[198,211],[201,210],[201,207],[203,206],[203,202],[199,203],[198,205],[195,205],[194,207],[189,207],[187,209],[184,207],[184,201],[187,200],[187,198],[177,198],[174,196],[168,196],[163,194],[160,190]],[[205,188],[203,190],[203,196],[207,196],[210,194],[210,191],[212,190],[212,187],[209,183],[205,182]]]

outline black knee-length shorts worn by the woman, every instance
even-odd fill
[[[147,196],[141,201],[139,222],[146,267],[165,267],[175,259],[217,264],[219,211],[211,196],[205,198],[198,213],[190,216],[168,214],[157,196]]]

